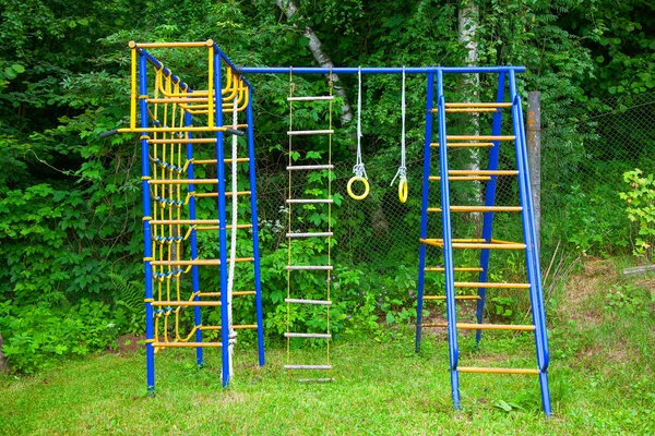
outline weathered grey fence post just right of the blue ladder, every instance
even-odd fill
[[[541,246],[541,93],[527,93],[527,159],[533,194],[537,246]]]

